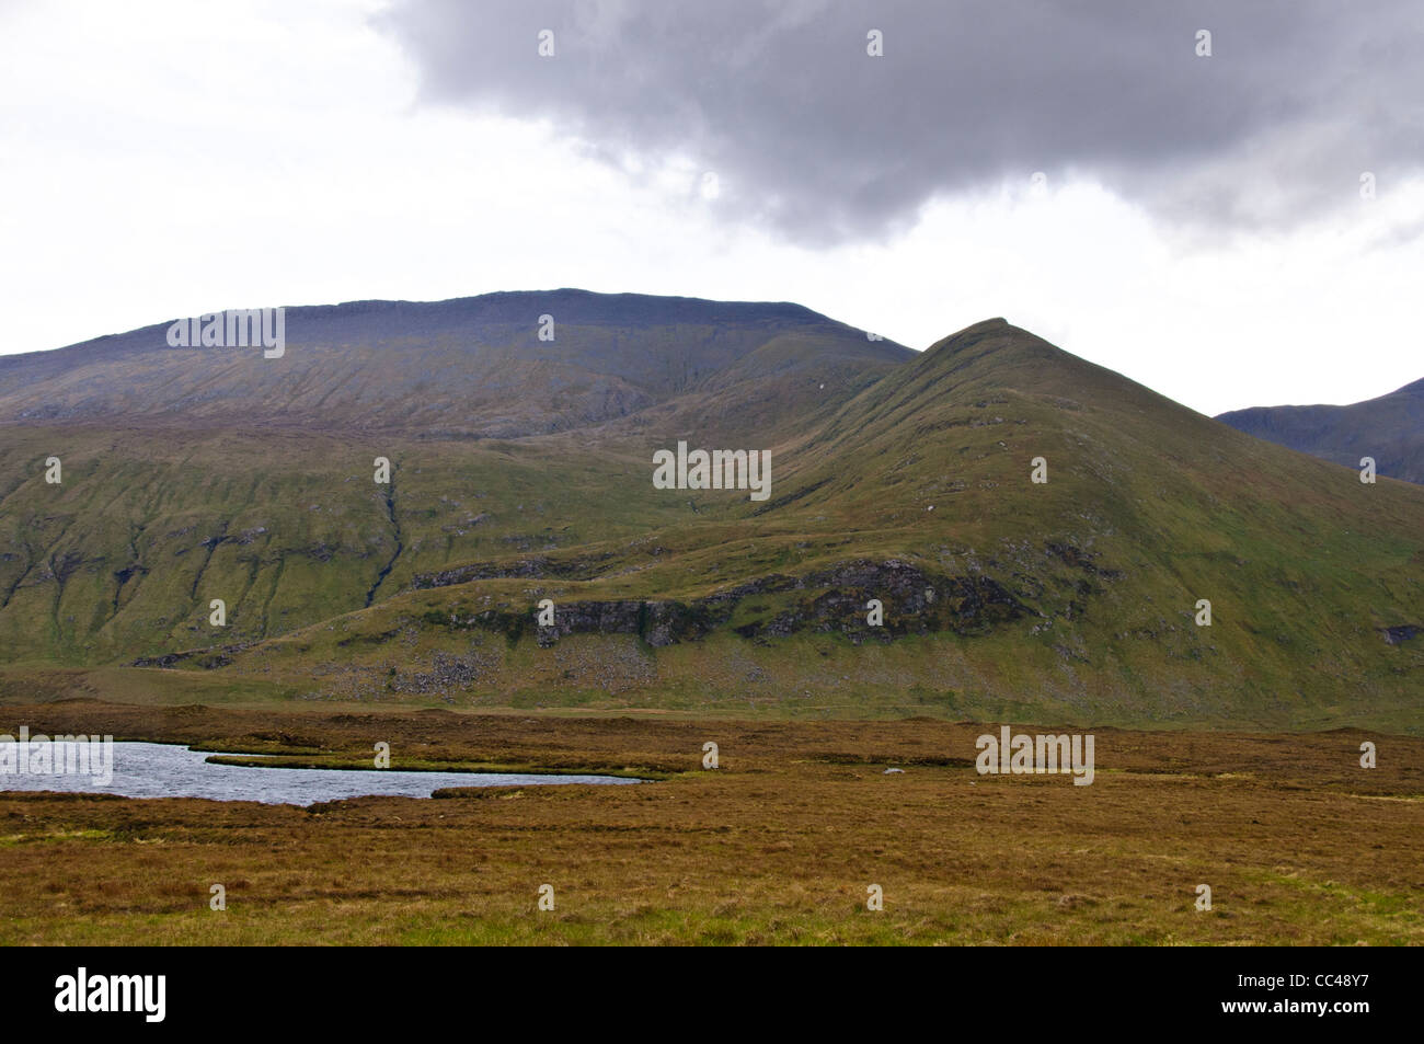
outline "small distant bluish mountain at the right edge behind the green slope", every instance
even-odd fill
[[[1222,413],[1237,432],[1321,460],[1424,484],[1424,380],[1351,406],[1253,406]]]

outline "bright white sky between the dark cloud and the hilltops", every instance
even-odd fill
[[[0,352],[226,306],[581,286],[796,301],[926,348],[1004,315],[1215,413],[1424,376],[1424,182],[1329,224],[1186,239],[1088,179],[940,199],[879,245],[728,221],[693,157],[416,108],[373,4],[0,11]],[[83,27],[83,28],[80,28]],[[641,164],[637,165],[635,164]],[[1397,236],[1396,236],[1397,238]]]

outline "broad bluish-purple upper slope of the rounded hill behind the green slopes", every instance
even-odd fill
[[[541,316],[553,339],[541,339]],[[520,437],[723,385],[839,387],[914,353],[800,305],[547,291],[289,308],[286,352],[169,348],[169,323],[0,356],[0,422]]]

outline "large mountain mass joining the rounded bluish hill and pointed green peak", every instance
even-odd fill
[[[913,353],[793,305],[305,310],[281,359],[9,362],[0,688],[1421,728],[1424,489],[1002,319]],[[678,442],[769,451],[768,496],[658,489]]]

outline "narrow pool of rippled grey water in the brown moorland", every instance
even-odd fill
[[[54,743],[56,761],[68,743]],[[429,798],[446,786],[555,786],[637,783],[617,776],[528,776],[494,772],[396,772],[393,769],[263,769],[209,765],[211,752],[169,743],[114,743],[112,779],[93,775],[0,772],[0,790],[117,793],[124,798],[211,798],[269,805],[313,805],[365,795]],[[7,759],[17,763],[14,752]]]

